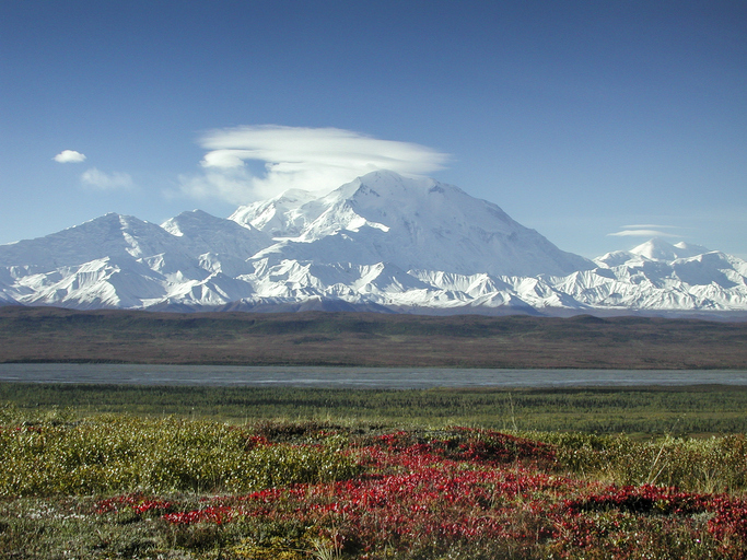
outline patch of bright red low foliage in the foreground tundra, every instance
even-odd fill
[[[747,559],[746,500],[588,482],[559,472],[552,446],[541,443],[457,429],[431,440],[390,433],[343,453],[364,475],[215,498],[191,511],[139,494],[103,501],[98,511],[161,512],[175,525],[297,522],[361,559],[454,546],[502,547],[524,558],[654,558],[667,550]]]

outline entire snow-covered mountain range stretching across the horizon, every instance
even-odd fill
[[[652,240],[594,261],[451,185],[375,172],[162,225],[0,245],[0,305],[412,313],[747,312],[747,262]]]

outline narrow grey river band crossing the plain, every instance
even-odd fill
[[[631,387],[747,385],[738,370],[467,370],[129,364],[0,364],[0,382],[236,387]]]

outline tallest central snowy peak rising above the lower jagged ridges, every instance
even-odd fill
[[[374,265],[462,275],[563,275],[593,268],[498,206],[433,179],[374,172],[320,199],[245,207],[231,219],[272,233],[257,258]],[[267,219],[268,215],[272,218]]]

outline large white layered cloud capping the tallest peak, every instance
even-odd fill
[[[376,170],[428,174],[450,159],[424,145],[339,128],[224,128],[206,133],[199,143],[208,150],[200,162],[202,172],[179,177],[180,191],[237,205],[290,188],[329,191]],[[264,162],[264,173],[252,173],[247,162]]]

